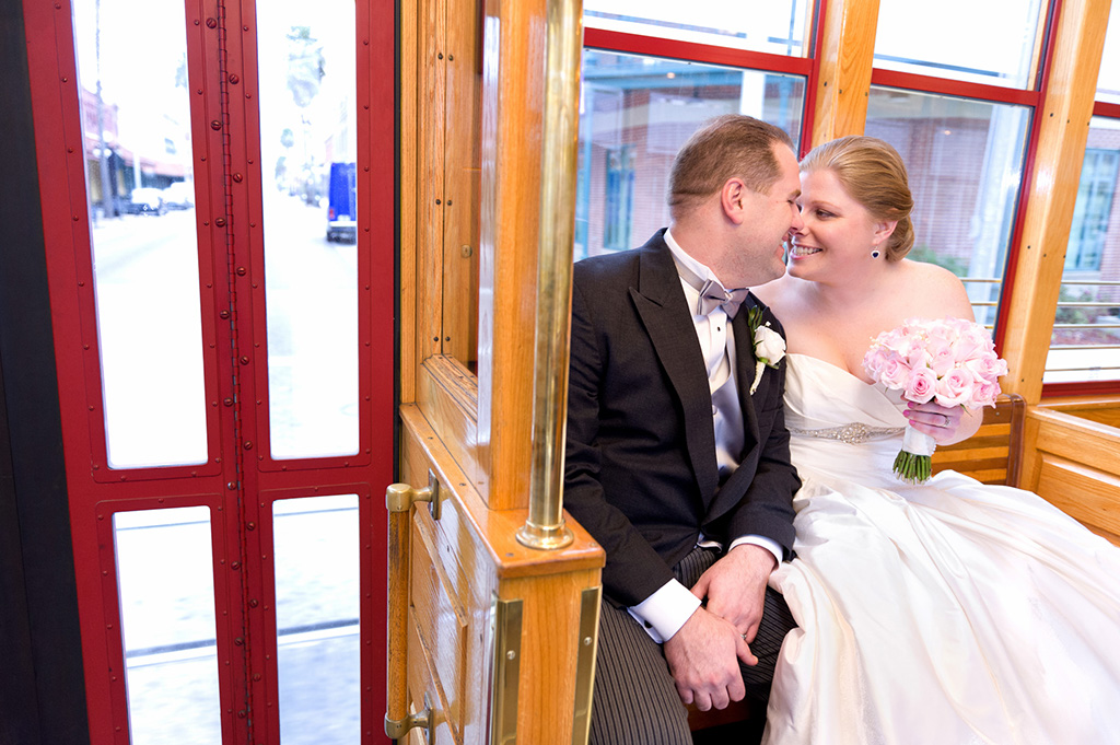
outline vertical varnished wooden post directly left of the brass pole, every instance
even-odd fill
[[[486,0],[483,20],[478,486],[494,510],[529,504],[545,6]]]

